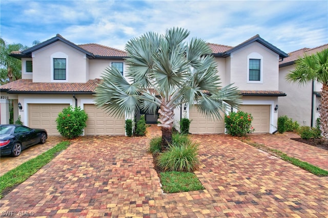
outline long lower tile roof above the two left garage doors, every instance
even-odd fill
[[[8,93],[94,93],[100,79],[78,82],[32,82],[32,79],[19,79],[0,86],[1,91]]]

